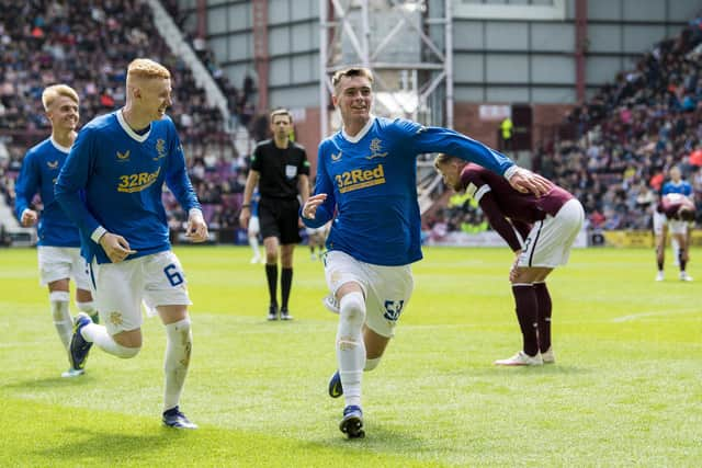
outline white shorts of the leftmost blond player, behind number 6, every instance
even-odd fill
[[[86,260],[78,247],[38,246],[39,284],[46,286],[58,279],[73,278],[76,287],[90,290],[90,276]]]

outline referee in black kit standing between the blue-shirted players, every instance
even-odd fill
[[[281,258],[281,320],[292,320],[287,309],[290,289],[293,284],[293,253],[299,237],[298,212],[302,197],[304,204],[309,197],[309,162],[305,148],[291,141],[293,116],[285,109],[270,115],[273,138],[257,145],[251,156],[251,168],[244,190],[244,204],[239,222],[244,229],[251,218],[251,196],[259,185],[259,221],[265,248],[265,278],[270,306],[268,319],[276,320],[278,303],[278,256]]]

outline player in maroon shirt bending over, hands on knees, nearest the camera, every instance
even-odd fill
[[[564,189],[553,185],[541,197],[521,193],[499,175],[479,165],[439,155],[434,167],[444,183],[465,191],[480,205],[490,226],[514,252],[509,279],[523,347],[497,365],[533,366],[554,363],[551,346],[551,296],[546,276],[565,265],[585,217],[580,203]]]

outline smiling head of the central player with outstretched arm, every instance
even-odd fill
[[[341,113],[344,126],[363,126],[371,118],[373,104],[371,85],[371,80],[362,75],[346,76],[339,80],[331,99]]]

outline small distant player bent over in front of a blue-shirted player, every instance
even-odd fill
[[[689,225],[694,221],[694,202],[681,193],[668,193],[660,198],[656,213],[654,213],[654,232],[656,235],[656,262],[658,274],[656,281],[663,281],[663,267],[666,259],[666,237],[670,230],[672,238],[678,242],[678,266],[680,266],[680,281],[690,282],[686,269],[689,258]]]

